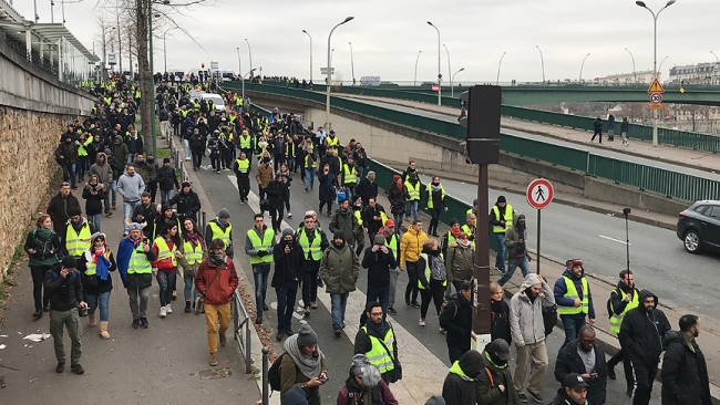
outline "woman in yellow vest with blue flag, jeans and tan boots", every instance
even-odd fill
[[[110,318],[110,293],[113,291],[111,271],[117,264],[115,257],[107,247],[105,233],[92,236],[90,249],[78,259],[78,270],[82,272],[82,290],[88,303],[88,326],[95,326],[95,310],[100,308],[100,335],[110,339],[107,320]]]

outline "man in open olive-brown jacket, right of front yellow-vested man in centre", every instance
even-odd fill
[[[320,260],[320,278],[332,301],[332,330],[336,338],[340,338],[344,329],[348,297],[356,290],[359,276],[360,261],[346,242],[344,233],[339,230],[332,236],[332,243]]]

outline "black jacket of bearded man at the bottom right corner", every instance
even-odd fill
[[[690,350],[682,332],[665,335],[667,350],[662,357],[662,405],[710,405],[710,384],[704,355],[692,341]]]

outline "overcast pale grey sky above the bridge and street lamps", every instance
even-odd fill
[[[50,0],[37,0],[41,22],[50,22]],[[667,0],[646,0],[657,11]],[[55,0],[60,4],[60,0]],[[97,39],[95,0],[65,4],[66,27],[89,49]],[[14,0],[16,9],[32,19],[32,0]],[[580,64],[584,79],[652,69],[652,17],[635,0],[218,0],[214,7],[196,7],[176,15],[203,46],[179,32],[168,33],[168,69],[187,71],[205,62],[238,70],[236,48],[241,51],[245,72],[253,68],[263,74],[295,75],[309,79],[309,39],[312,35],[313,80],[320,80],[320,66],[327,64],[330,29],[346,17],[354,20],[332,34],[333,63],[344,80],[351,80],[350,45],[354,75],[381,76],[383,81],[412,81],[418,51],[418,81],[435,80],[438,74],[438,33],[448,46],[455,82],[494,82],[498,61],[501,82],[539,81],[541,56],[548,80],[577,80]],[[55,21],[60,20],[55,7]],[[667,77],[672,65],[716,61],[720,55],[719,0],[677,0],[658,19],[658,64]],[[171,39],[171,35],[174,37]],[[714,46],[714,48],[713,48]],[[95,44],[100,54],[100,45]],[[207,52],[207,53],[206,53]],[[441,71],[448,80],[448,55],[441,48]],[[124,58],[126,61],[126,56]],[[126,62],[124,62],[126,63]],[[155,42],[155,71],[163,69],[162,40]]]

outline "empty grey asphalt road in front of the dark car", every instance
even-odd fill
[[[428,181],[429,177],[422,176]],[[448,194],[472,204],[476,198],[476,185],[441,180]],[[516,212],[527,217],[528,247],[537,247],[537,214],[524,195],[490,190],[490,206],[497,196],[504,195]],[[603,280],[616,283],[626,264],[625,218],[551,204],[543,209],[541,221],[541,255],[554,261],[583,259],[585,271]],[[459,218],[461,219],[461,218]],[[462,219],[461,219],[462,221]],[[720,274],[717,255],[690,255],[672,230],[629,221],[630,269],[640,289],[649,289],[661,303],[716,316],[719,308],[717,294]],[[596,298],[599,310],[606,298]]]

